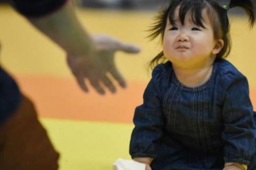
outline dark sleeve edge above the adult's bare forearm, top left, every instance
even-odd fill
[[[12,0],[10,4],[26,17],[41,17],[62,7],[68,0]]]

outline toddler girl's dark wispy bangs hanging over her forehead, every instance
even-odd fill
[[[172,1],[169,8],[169,21],[171,25],[176,25],[175,10],[179,8],[179,20],[182,25],[184,25],[185,16],[189,14],[191,16],[191,21],[194,25],[205,28],[203,22],[205,18],[202,15],[203,10],[207,9],[207,4],[200,0],[183,0],[183,1]]]

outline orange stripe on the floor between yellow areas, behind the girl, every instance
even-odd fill
[[[101,96],[94,90],[84,93],[74,79],[51,77],[16,78],[22,91],[31,98],[39,116],[83,119],[103,122],[132,123],[134,109],[142,103],[146,82],[130,82],[126,89],[117,94]],[[256,108],[256,89],[250,91]]]

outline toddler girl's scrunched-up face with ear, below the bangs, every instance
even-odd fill
[[[185,16],[182,25],[178,7],[174,14],[176,26],[172,26],[167,19],[163,39],[164,54],[173,65],[179,67],[194,68],[212,64],[222,43],[214,39],[213,28],[206,15],[203,22],[205,28],[196,26],[190,16],[190,13]]]

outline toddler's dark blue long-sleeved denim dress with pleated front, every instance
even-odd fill
[[[210,79],[184,86],[171,62],[157,65],[134,114],[132,157],[154,158],[155,169],[223,169],[237,162],[256,169],[255,127],[248,81],[227,60]]]

